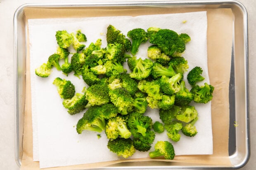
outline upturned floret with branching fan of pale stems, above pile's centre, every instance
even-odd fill
[[[142,60],[141,58],[132,57],[128,58],[127,63],[132,71],[129,73],[130,77],[137,80],[149,77],[153,66],[153,62],[148,58]]]

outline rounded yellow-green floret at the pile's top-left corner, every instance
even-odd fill
[[[59,47],[68,48],[73,42],[73,36],[66,30],[58,30],[55,34]]]

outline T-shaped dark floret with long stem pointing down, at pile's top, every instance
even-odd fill
[[[128,31],[127,37],[132,40],[132,47],[130,49],[130,53],[133,56],[138,52],[140,44],[147,42],[147,32],[142,28],[135,28],[133,30]]]

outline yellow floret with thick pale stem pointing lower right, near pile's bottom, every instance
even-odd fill
[[[109,140],[115,140],[117,137],[127,139],[131,136],[126,121],[121,116],[113,117],[107,121],[105,133]]]

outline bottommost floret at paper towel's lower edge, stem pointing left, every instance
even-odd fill
[[[174,159],[175,151],[173,144],[168,141],[157,141],[155,144],[155,150],[149,152],[150,158],[155,158],[158,156],[164,156],[165,159]]]

